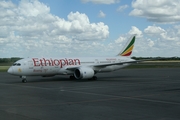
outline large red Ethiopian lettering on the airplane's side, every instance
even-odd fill
[[[46,58],[32,58],[34,66],[63,66],[68,65],[80,65],[81,62],[79,59],[46,59]]]

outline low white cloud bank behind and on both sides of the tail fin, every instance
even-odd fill
[[[180,56],[180,40],[177,37],[180,34],[178,29],[179,26],[163,29],[153,25],[140,30],[138,27],[132,26],[128,33],[120,35],[114,42],[108,44],[107,48],[111,52],[114,50],[113,54],[118,53],[124,47],[131,34],[137,34],[132,56]],[[153,34],[155,32],[158,32],[158,34]],[[108,52],[110,53],[110,51]]]

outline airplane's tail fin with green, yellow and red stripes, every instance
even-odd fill
[[[134,42],[135,42],[136,35],[132,35],[131,38],[126,43],[126,46],[122,49],[122,51],[118,54],[118,56],[130,56],[132,53],[132,50],[134,48]]]

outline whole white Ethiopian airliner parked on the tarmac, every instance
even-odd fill
[[[7,72],[20,76],[23,83],[27,82],[26,76],[70,75],[70,79],[97,80],[97,73],[112,72],[131,63],[138,63],[130,58],[135,38],[136,35],[132,35],[122,51],[114,57],[24,58],[16,61]]]

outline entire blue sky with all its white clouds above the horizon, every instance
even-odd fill
[[[177,0],[0,0],[0,57],[180,57]]]

